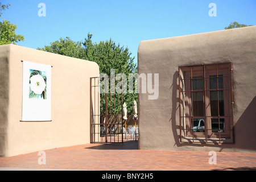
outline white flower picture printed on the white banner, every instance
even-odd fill
[[[38,98],[46,100],[47,92],[46,72],[30,69],[30,92],[29,98]]]

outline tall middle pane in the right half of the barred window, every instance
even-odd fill
[[[210,113],[212,116],[218,116],[218,107],[220,116],[224,116],[223,91],[210,91]]]

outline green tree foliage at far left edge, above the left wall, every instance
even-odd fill
[[[2,11],[5,9],[9,9],[9,4],[2,5],[0,2],[0,16],[3,14]],[[16,35],[15,30],[17,26],[15,24],[11,24],[7,20],[3,20],[0,22],[0,45],[3,44],[16,44],[19,41],[24,40],[23,35]]]

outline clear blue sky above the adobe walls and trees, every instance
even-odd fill
[[[16,24],[16,34],[24,35],[18,45],[42,48],[60,38],[74,41],[93,34],[92,41],[112,40],[128,47],[137,63],[142,40],[169,38],[224,30],[231,22],[256,25],[255,0],[4,0],[11,7],[0,20]],[[46,5],[46,16],[38,16],[39,3]],[[209,16],[210,3],[217,16]]]

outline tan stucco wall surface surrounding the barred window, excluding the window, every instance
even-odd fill
[[[232,62],[234,144],[179,141],[178,67]],[[159,73],[159,97],[139,94],[139,148],[256,152],[256,26],[142,41],[138,73]]]

